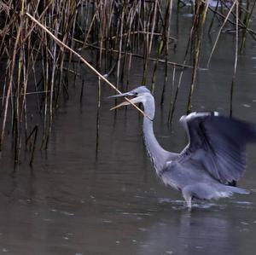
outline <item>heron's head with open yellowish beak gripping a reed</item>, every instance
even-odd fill
[[[119,95],[114,95],[114,96],[109,96],[109,98],[117,98],[117,97],[129,97],[130,101],[132,103],[140,103],[142,102],[143,105],[145,104],[145,102],[148,99],[148,96],[151,96],[150,90],[148,90],[145,86],[140,86],[137,87],[134,90],[131,90],[129,92],[125,92],[123,94],[119,94]],[[131,98],[130,98],[131,97]],[[151,96],[152,97],[152,96]],[[130,101],[123,101],[121,102],[119,105],[111,108],[111,110],[119,108],[119,107],[123,107],[123,106],[127,106],[130,105],[131,102]]]

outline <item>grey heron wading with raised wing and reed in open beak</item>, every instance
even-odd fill
[[[217,112],[189,113],[180,119],[189,144],[179,154],[166,151],[154,136],[154,96],[145,86],[121,95],[143,103],[143,136],[155,171],[167,186],[183,194],[191,209],[193,199],[212,200],[232,194],[248,194],[235,187],[246,168],[246,145],[256,142],[255,125],[219,115]],[[121,107],[129,105],[120,103]],[[232,185],[233,183],[233,185]]]

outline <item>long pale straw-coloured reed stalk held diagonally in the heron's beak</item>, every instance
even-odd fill
[[[32,17],[31,14],[26,13],[26,15],[33,21],[35,22],[38,26],[40,26],[44,32],[47,32],[49,34],[49,36],[51,38],[53,38],[55,40],[56,43],[58,43],[61,48],[65,48],[67,50],[70,50],[73,55],[77,56],[79,58],[79,61],[82,61],[86,67],[89,67],[91,71],[95,72],[96,75],[101,78],[105,83],[107,83],[113,90],[115,90],[116,92],[118,92],[119,94],[122,94],[120,90],[118,90],[112,83],[110,83],[110,81],[105,78],[100,72],[98,72],[94,67],[92,67],[88,61],[86,61],[81,55],[79,55],[79,53],[77,53],[75,50],[71,49],[69,46],[67,46],[67,44],[62,43],[61,40],[59,38],[56,38],[55,35],[50,32],[44,25],[42,25],[40,22],[38,22],[38,20],[36,20],[34,17]],[[146,115],[142,109],[140,109],[139,107],[137,107],[137,105],[135,105],[131,100],[129,100],[129,98],[125,97],[125,100],[128,101],[133,107],[137,108],[137,110],[143,114],[143,116],[147,117],[148,119],[150,119],[150,117],[148,115]]]

